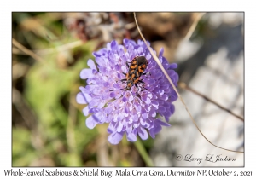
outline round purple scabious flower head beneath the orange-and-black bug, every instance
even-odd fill
[[[160,62],[177,86],[178,75],[173,70],[177,64],[169,64],[163,53],[164,49],[160,49]],[[161,126],[170,126],[169,118],[175,110],[172,102],[177,100],[177,94],[143,41],[124,39],[124,46],[112,41],[93,55],[97,66],[89,60],[90,69],[80,72],[80,78],[87,79],[87,85],[80,87],[77,95],[79,104],[87,104],[83,113],[88,116],[85,121],[88,128],[109,123],[108,141],[118,144],[125,134],[127,141],[137,141],[137,135],[146,140],[148,133],[154,138]],[[144,71],[147,74],[140,78],[144,84],[125,90],[126,84],[121,82],[125,79],[123,72],[128,72],[125,62],[131,62],[136,56],[148,60]],[[165,122],[159,116],[164,117]]]

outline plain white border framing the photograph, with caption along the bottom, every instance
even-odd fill
[[[251,3],[252,2],[252,3]],[[12,11],[244,11],[245,12],[245,168],[226,168],[233,171],[255,171],[255,7],[253,1],[1,1],[0,3],[0,23],[1,23],[1,124],[0,140],[1,143],[1,167],[0,176],[5,178],[3,169],[11,169],[11,12]],[[31,168],[30,168],[31,169]],[[140,170],[149,170],[146,168],[136,168]],[[171,170],[197,170],[199,168],[171,168]],[[203,168],[211,170],[210,168]],[[25,168],[23,168],[25,170]],[[31,170],[39,170],[33,168]],[[53,170],[53,168],[51,168]],[[73,170],[73,168],[61,168],[61,170]],[[78,168],[80,170],[80,168]],[[106,170],[111,170],[107,168]],[[130,168],[129,170],[132,170]],[[155,170],[166,170],[166,168],[157,168]],[[213,170],[218,170],[217,168]],[[3,176],[3,177],[2,177]],[[253,177],[256,173],[253,172]],[[24,177],[24,176],[23,176]],[[26,176],[25,176],[26,177]],[[86,177],[89,176],[77,176]],[[139,176],[155,177],[155,176]],[[169,176],[172,177],[172,176]],[[185,177],[185,176],[183,176]],[[199,176],[196,176],[199,177]],[[220,176],[223,178],[224,176]],[[247,178],[252,178],[246,176]],[[8,178],[11,178],[10,176]],[[17,177],[15,177],[17,178]],[[199,177],[200,178],[200,177]],[[242,178],[242,177],[241,177]]]

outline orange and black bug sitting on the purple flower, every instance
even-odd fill
[[[131,64],[129,66],[129,63]],[[126,66],[128,67],[128,72],[123,74],[125,75],[125,79],[122,79],[121,82],[126,83],[126,87],[124,89],[119,90],[131,90],[131,87],[135,85],[137,88],[141,87],[143,90],[145,89],[143,86],[138,86],[137,84],[144,84],[144,82],[140,79],[142,75],[145,75],[144,71],[148,66],[148,61],[144,56],[136,56],[132,59],[131,62],[126,62]],[[113,90],[111,90],[113,91]]]

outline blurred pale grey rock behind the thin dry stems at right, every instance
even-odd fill
[[[211,19],[212,15],[209,14]],[[241,16],[238,14],[237,16]],[[220,14],[224,16],[224,14]],[[235,15],[236,16],[236,15]],[[206,95],[218,104],[244,117],[244,86],[243,86],[243,37],[240,23],[227,23],[220,19],[218,28],[208,36],[203,36],[200,49],[181,63],[179,73],[181,81],[185,81],[194,90]],[[210,26],[210,25],[209,25]],[[212,27],[211,27],[212,28]],[[194,47],[190,47],[194,48]],[[180,52],[184,53],[184,52]],[[202,97],[189,91],[179,90],[183,101],[202,133],[218,147],[243,151],[243,122],[230,113],[205,101]],[[176,112],[171,118],[172,127],[164,128],[154,143],[151,156],[157,166],[243,166],[244,154],[234,153],[212,146],[206,141],[189,118],[183,104],[175,103]],[[177,161],[177,155],[183,156]],[[236,161],[206,161],[207,154],[212,160],[217,155],[221,158]],[[187,158],[186,158],[187,156]],[[189,162],[184,159],[201,158],[201,162]],[[215,161],[215,160],[214,160]]]

